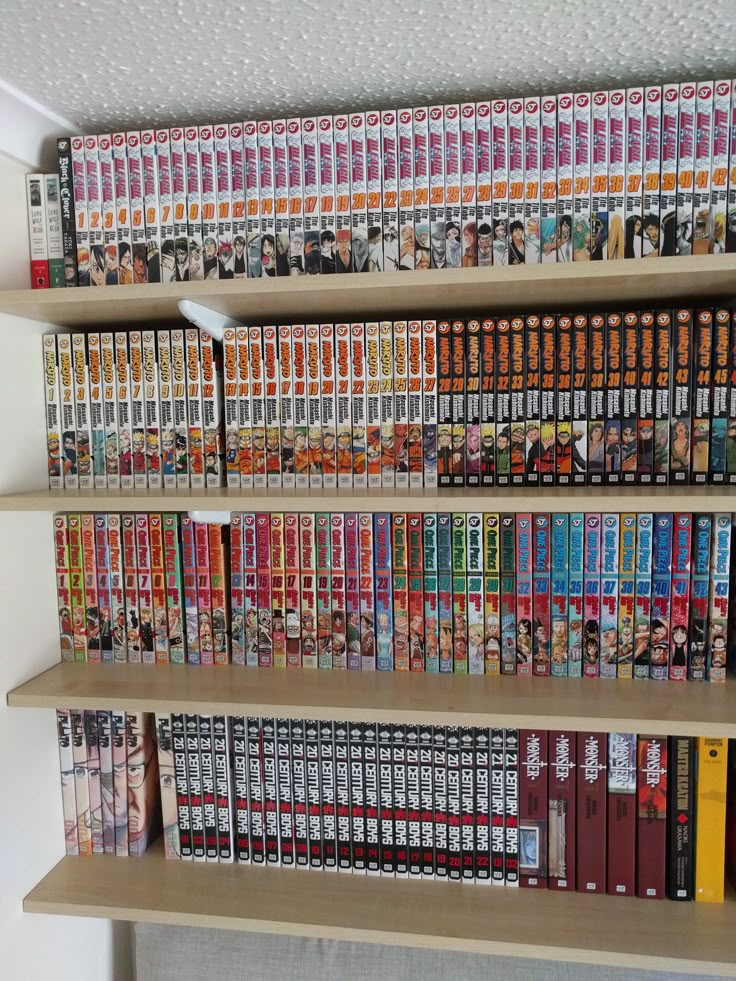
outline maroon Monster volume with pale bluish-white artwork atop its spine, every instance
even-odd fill
[[[636,861],[636,735],[608,734],[607,892],[633,896]]]

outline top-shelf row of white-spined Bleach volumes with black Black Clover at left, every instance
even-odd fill
[[[735,89],[725,79],[63,138],[65,284],[733,251]],[[48,259],[31,201],[38,269]]]

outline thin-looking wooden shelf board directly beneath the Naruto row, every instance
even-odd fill
[[[396,490],[52,491],[0,495],[0,511],[736,510],[729,487],[455,487]]]

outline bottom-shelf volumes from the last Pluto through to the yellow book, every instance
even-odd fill
[[[243,716],[157,726],[172,859],[723,902],[725,739]]]

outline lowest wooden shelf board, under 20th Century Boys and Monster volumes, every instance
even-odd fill
[[[94,916],[512,957],[734,976],[734,904],[143,857],[64,858],[27,913]]]

